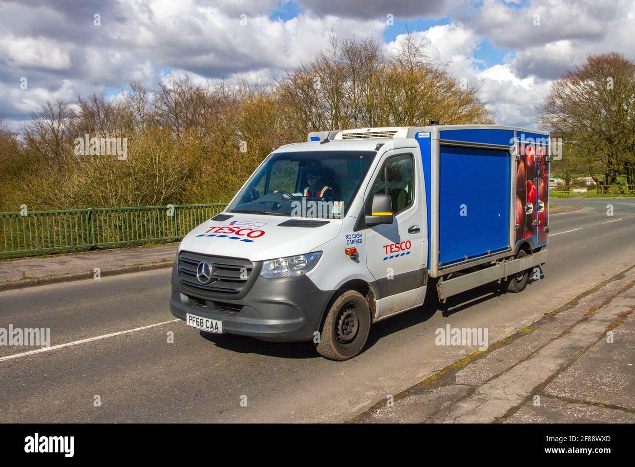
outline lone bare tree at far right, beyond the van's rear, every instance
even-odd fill
[[[620,184],[620,175],[635,191],[635,62],[619,53],[589,55],[552,84],[537,110],[540,126],[586,155],[600,192]]]

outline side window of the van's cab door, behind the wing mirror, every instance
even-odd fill
[[[408,208],[414,199],[414,180],[415,160],[412,154],[401,154],[386,159],[370,189],[366,200],[366,213],[370,215],[373,196],[377,193],[388,194],[391,197],[394,215]]]

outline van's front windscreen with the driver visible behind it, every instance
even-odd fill
[[[243,186],[228,211],[342,217],[375,154],[375,151],[274,154]]]

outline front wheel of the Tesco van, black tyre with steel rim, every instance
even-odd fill
[[[316,350],[329,360],[349,360],[362,351],[369,331],[370,309],[366,299],[358,291],[348,290],[328,310]]]

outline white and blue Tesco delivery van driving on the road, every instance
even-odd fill
[[[181,242],[170,307],[207,332],[313,341],[347,360],[370,325],[547,259],[549,134],[430,125],[316,132],[275,149]]]

